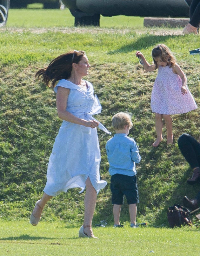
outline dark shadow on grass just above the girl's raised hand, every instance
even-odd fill
[[[124,45],[123,47],[116,49],[114,51],[108,52],[108,54],[116,54],[116,53],[128,53],[132,52],[133,50],[138,50],[138,49],[145,49],[150,46],[154,47],[157,44],[164,44],[165,41],[168,39],[173,39],[177,38],[177,35],[164,35],[164,36],[159,36],[159,35],[142,35],[140,38],[138,38],[136,41],[133,41],[131,44]]]

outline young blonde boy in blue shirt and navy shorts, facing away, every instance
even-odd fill
[[[110,164],[114,227],[123,227],[119,218],[125,195],[129,204],[130,226],[136,228],[139,199],[135,163],[139,163],[141,157],[135,140],[127,136],[133,126],[130,116],[124,112],[117,113],[112,117],[112,126],[116,133],[107,141],[106,153]]]

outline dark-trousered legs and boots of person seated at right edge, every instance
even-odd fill
[[[178,147],[193,169],[192,178],[188,179],[187,183],[195,184],[200,180],[200,143],[191,135],[184,133],[178,139]],[[198,203],[200,203],[200,191],[194,199],[189,200],[186,196],[183,198],[183,204],[190,210],[197,209]]]

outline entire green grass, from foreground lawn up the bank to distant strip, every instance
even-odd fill
[[[0,30],[1,255],[146,255],[150,251],[157,255],[198,255],[199,220],[193,215],[196,226],[172,230],[168,228],[166,211],[174,203],[182,204],[183,196],[192,198],[199,191],[199,184],[186,183],[191,169],[177,146],[183,132],[198,138],[199,109],[173,116],[174,144],[166,145],[164,126],[164,141],[153,148],[156,134],[150,96],[157,72],[145,72],[135,57],[140,50],[151,62],[151,50],[156,44],[169,46],[199,105],[200,56],[190,56],[188,51],[199,47],[198,37],[183,36],[180,28],[143,28],[142,18],[135,17],[120,17],[123,26],[119,26],[118,17],[113,17],[112,25],[105,22],[101,28],[74,28],[67,10],[39,11],[42,14],[33,9],[10,10],[7,27]],[[136,21],[130,25],[126,18]],[[104,19],[101,18],[102,24]],[[53,198],[37,227],[28,224],[34,204],[42,195],[48,159],[61,124],[55,94],[35,80],[36,67],[42,68],[59,54],[73,49],[84,50],[90,60],[86,79],[93,83],[102,104],[97,120],[113,132],[111,117],[115,113],[128,111],[132,115],[130,137],[136,140],[142,157],[137,165],[140,198],[137,223],[147,222],[147,228],[129,228],[126,201],[121,212],[125,228],[112,228],[109,165],[105,154],[105,143],[110,136],[100,130],[100,174],[108,185],[98,195],[93,224],[107,221],[105,229],[94,229],[101,239],[77,239],[84,210],[84,192],[78,194],[79,189]],[[156,228],[161,226],[164,228]]]

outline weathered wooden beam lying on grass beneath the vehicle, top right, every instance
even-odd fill
[[[189,23],[190,19],[188,18],[144,18],[144,27],[162,27],[162,26],[170,26],[170,27],[184,27]]]

